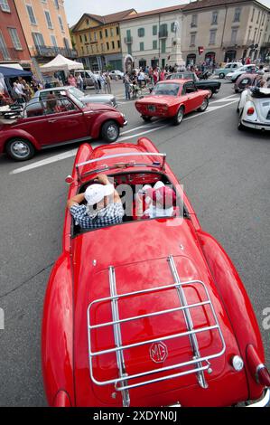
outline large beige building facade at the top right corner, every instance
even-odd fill
[[[182,13],[182,54],[187,63],[265,60],[269,8],[258,1],[198,0],[184,6]]]

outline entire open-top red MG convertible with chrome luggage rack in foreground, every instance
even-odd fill
[[[247,292],[165,154],[147,138],[84,144],[66,180],[69,198],[100,172],[114,181],[125,215],[89,231],[66,211],[42,320],[49,405],[265,406],[270,376]],[[178,213],[138,220],[126,193],[133,204],[157,182],[174,192]]]

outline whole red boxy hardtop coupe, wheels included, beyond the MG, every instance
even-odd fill
[[[177,126],[185,114],[205,111],[209,97],[209,90],[198,90],[193,80],[165,80],[156,84],[150,96],[137,100],[135,108],[144,121],[153,117],[172,118]]]

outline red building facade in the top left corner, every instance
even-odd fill
[[[0,65],[13,62],[26,70],[31,68],[30,52],[14,0],[0,0]]]

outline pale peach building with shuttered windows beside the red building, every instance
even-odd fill
[[[63,0],[14,0],[32,58],[51,61],[58,53],[70,59],[72,49]]]

